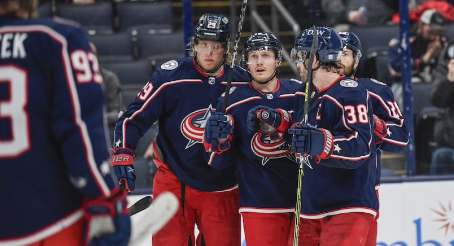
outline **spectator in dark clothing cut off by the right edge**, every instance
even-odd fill
[[[436,121],[431,174],[454,174],[454,40],[442,51],[433,75],[432,104],[445,108]]]

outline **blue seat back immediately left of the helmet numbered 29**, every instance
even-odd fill
[[[172,59],[184,55],[185,43],[184,35],[182,32],[175,32],[169,34],[148,34],[139,33],[137,35],[137,43],[140,50],[141,58],[148,58],[163,54],[173,53]]]

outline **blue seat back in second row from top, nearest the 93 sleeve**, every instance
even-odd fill
[[[96,34],[89,36],[103,60],[133,60],[134,43],[130,33]]]

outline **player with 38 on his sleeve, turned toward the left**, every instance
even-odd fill
[[[295,40],[292,58],[303,80],[312,66],[315,87],[308,124],[304,103],[295,108],[288,133],[292,151],[308,155],[301,192],[300,245],[364,245],[378,211],[372,105],[365,87],[336,73],[343,50],[337,32],[317,27],[314,61],[308,64],[313,29]],[[293,238],[292,238],[293,239]],[[291,245],[291,241],[289,244]]]

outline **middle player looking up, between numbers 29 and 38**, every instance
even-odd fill
[[[245,42],[243,59],[252,82],[233,87],[226,114],[216,112],[209,117],[204,145],[213,152],[208,164],[215,169],[237,167],[248,246],[286,245],[295,210],[298,166],[278,129],[291,125],[288,111],[293,110],[301,82],[276,77],[282,46],[271,33],[252,34]],[[222,101],[223,96],[217,111]],[[266,111],[275,112],[275,117],[268,117]],[[247,121],[247,115],[252,120]],[[259,131],[260,122],[270,120],[279,122],[279,127]]]

